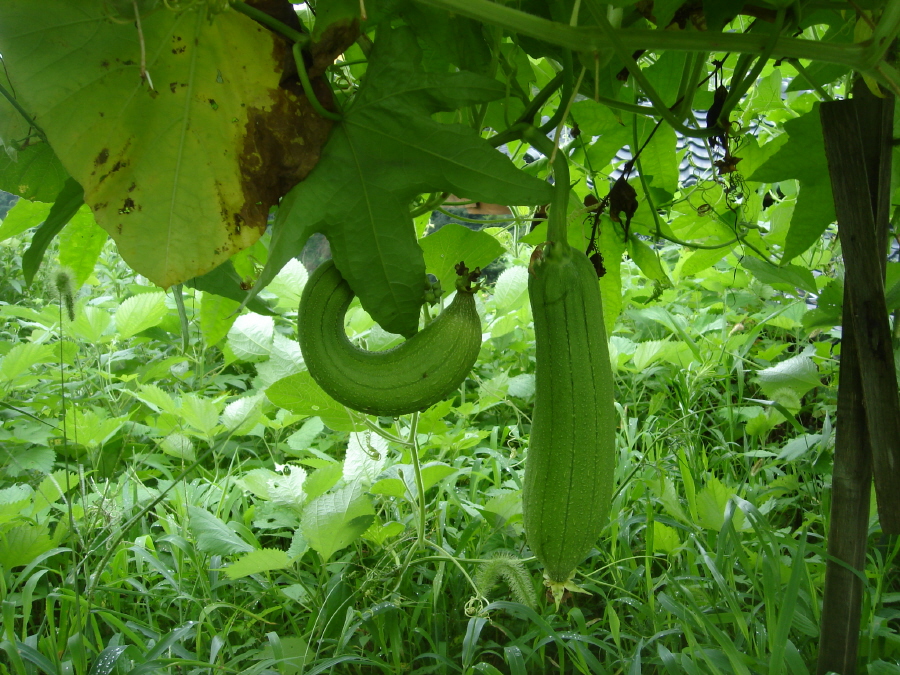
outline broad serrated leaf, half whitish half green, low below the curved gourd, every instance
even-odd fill
[[[350,545],[375,520],[375,508],[356,485],[323,494],[303,509],[303,536],[322,560]]]

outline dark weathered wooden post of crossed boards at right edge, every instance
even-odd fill
[[[879,337],[884,331],[890,340],[883,280],[894,101],[862,86],[854,94],[853,100],[822,104],[820,111],[846,275],[819,675],[857,671],[873,463],[882,529],[900,528],[900,491],[890,489],[900,471],[900,406],[890,342],[885,356]],[[881,320],[875,318],[879,311]],[[888,368],[891,383],[884,377]]]

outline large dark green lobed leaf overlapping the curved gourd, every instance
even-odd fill
[[[470,128],[431,115],[498,99],[503,86],[467,72],[429,74],[406,30],[379,29],[366,79],[309,178],[279,208],[262,288],[312,232],[328,236],[335,264],[363,307],[391,332],[418,328],[425,264],[408,210],[421,192],[477,201],[540,204],[550,186]]]

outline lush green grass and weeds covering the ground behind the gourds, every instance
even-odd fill
[[[132,337],[110,323],[87,340],[7,287],[18,309],[0,306],[0,354],[67,346],[62,365],[54,351],[0,383],[0,673],[812,672],[839,347],[808,334],[797,299],[730,264],[648,306],[628,301],[641,282],[626,265],[617,491],[579,568],[586,592],[558,609],[521,525],[528,325],[488,340],[415,438],[410,420],[370,420],[394,440],[372,435],[351,457],[349,427],[252,398],[299,368],[275,349],[239,356],[234,333],[208,344],[205,296],[186,293],[182,351],[171,299]],[[115,317],[148,290],[111,253],[97,277],[80,312]],[[292,338],[292,319],[273,335]],[[766,369],[790,358],[818,385],[769,386]],[[413,452],[436,477],[424,502],[403,469]],[[307,472],[302,489],[288,464]],[[351,469],[362,495],[341,492]],[[28,490],[48,476],[59,494],[38,504]],[[348,506],[314,536],[308,504],[338,495],[370,504],[372,524],[352,530]],[[323,560],[329,532],[347,541]],[[871,534],[861,661],[900,672],[900,544],[874,519]]]

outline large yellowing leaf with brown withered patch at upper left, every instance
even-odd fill
[[[0,53],[97,222],[168,287],[259,238],[330,122],[280,87],[286,47],[268,30],[234,11],[210,21],[206,3],[154,4],[139,31],[130,2],[9,0]]]

